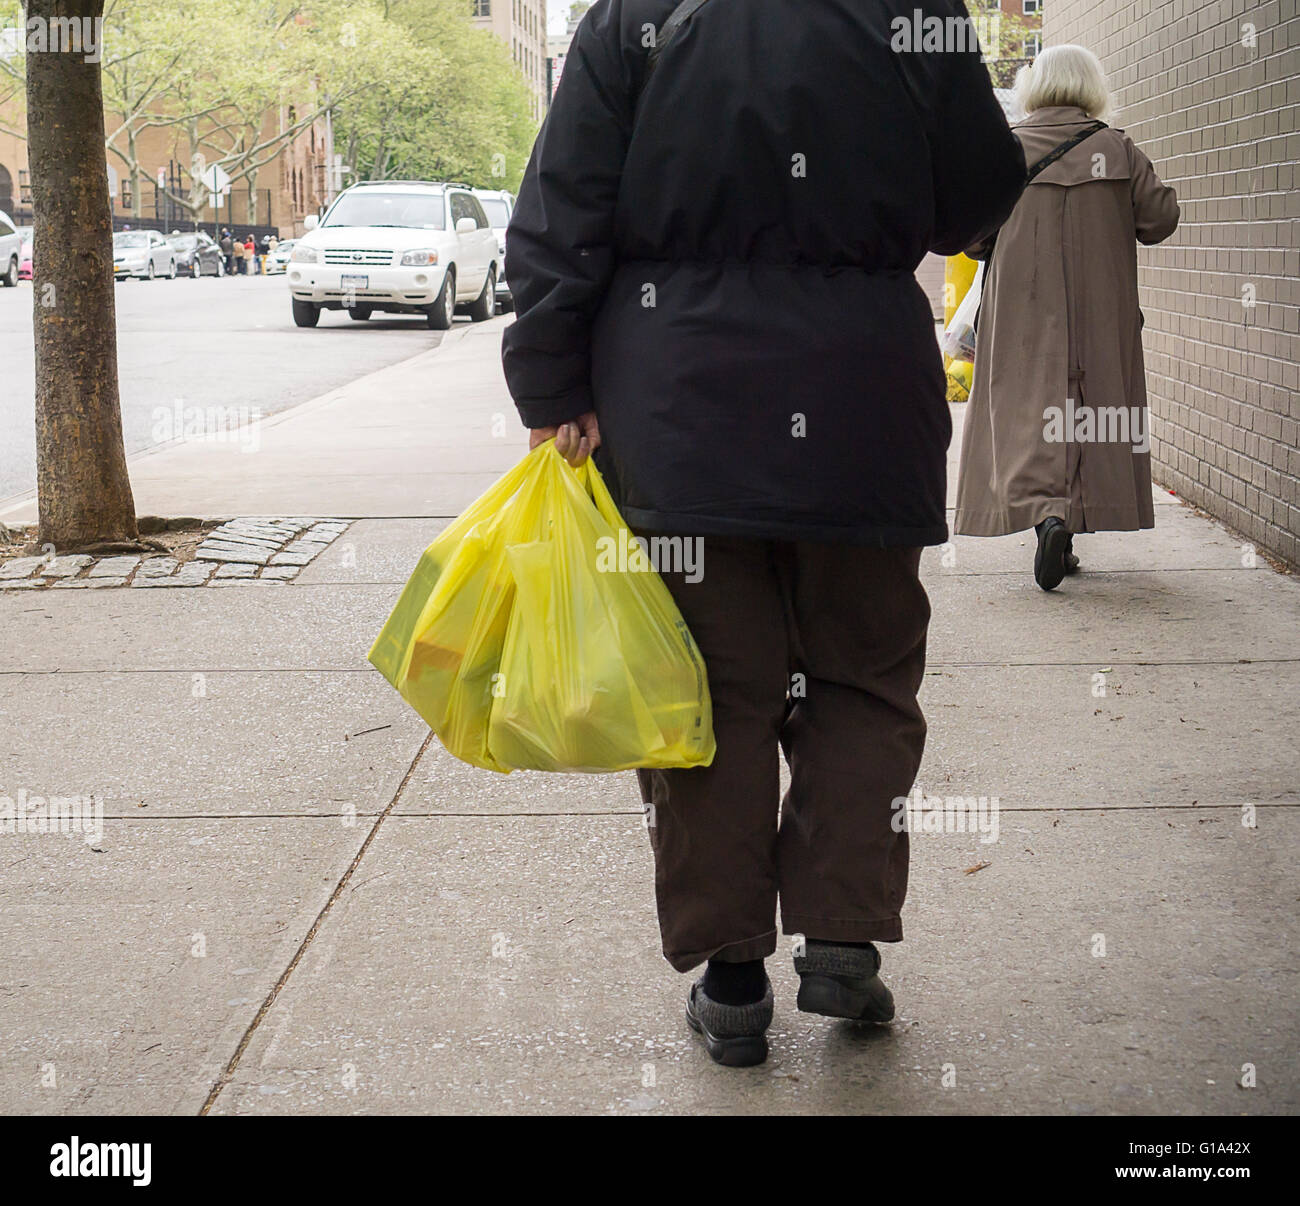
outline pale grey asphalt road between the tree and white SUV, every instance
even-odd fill
[[[317,327],[296,327],[283,276],[124,281],[116,292],[127,454],[156,443],[177,403],[182,416],[274,415],[442,338],[422,317],[396,314],[354,322],[325,311]],[[31,303],[27,282],[0,289],[0,503],[36,485]]]

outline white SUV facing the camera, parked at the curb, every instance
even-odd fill
[[[499,270],[497,235],[468,185],[367,181],[298,239],[286,278],[299,326],[322,309],[358,321],[381,309],[446,330],[458,305],[476,322],[497,313]]]

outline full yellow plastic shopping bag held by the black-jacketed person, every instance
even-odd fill
[[[542,444],[429,546],[370,661],[477,767],[708,765],[703,659],[625,526]]]

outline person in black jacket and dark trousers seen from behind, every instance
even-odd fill
[[[533,446],[594,452],[633,530],[702,554],[658,568],[718,754],[641,789],[664,955],[707,962],[688,1021],[744,1064],[777,903],[800,1008],[893,1014],[874,942],[902,937],[952,433],[914,270],[997,229],[1024,159],[959,0],[712,0],[651,70],[676,8],[577,29],[508,229],[503,363]]]

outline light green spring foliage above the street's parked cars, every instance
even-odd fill
[[[0,30],[21,25],[0,0]],[[21,44],[3,51],[0,101],[18,100]],[[109,159],[133,175],[139,134],[162,127],[194,175],[251,182],[328,110],[348,179],[515,188],[537,134],[510,48],[464,0],[108,0],[103,87]],[[202,207],[202,185],[178,200]]]

